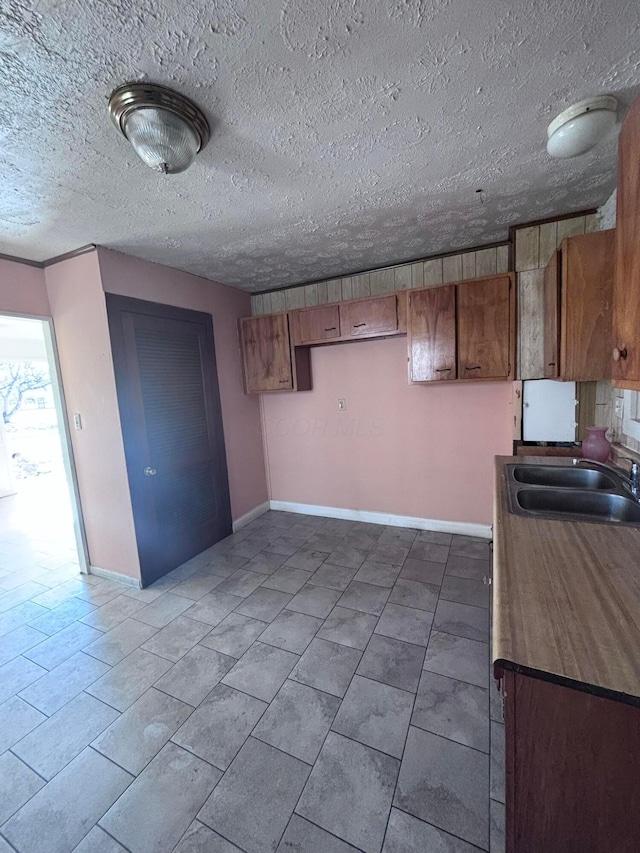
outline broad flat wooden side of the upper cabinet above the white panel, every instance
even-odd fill
[[[561,379],[588,382],[611,376],[613,251],[613,231],[562,241]]]

